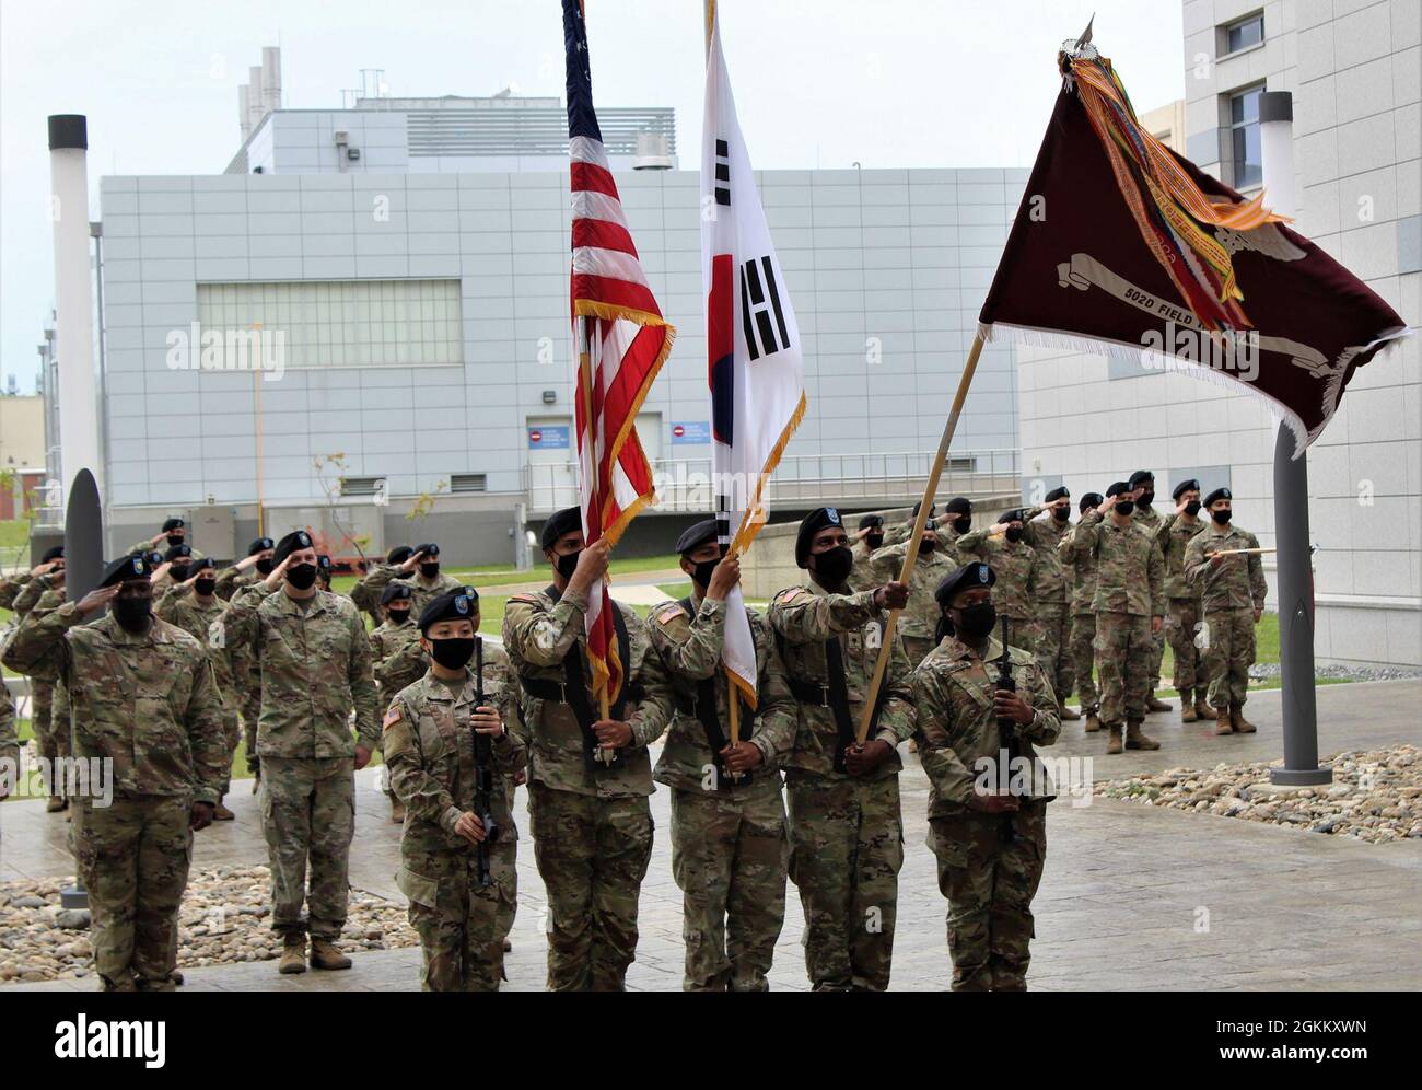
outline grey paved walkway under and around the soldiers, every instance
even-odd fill
[[[1422,743],[1422,682],[1318,690],[1320,748]],[[1156,753],[1106,758],[1105,741],[1066,724],[1058,756],[1092,756],[1109,778],[1280,753],[1278,694],[1250,702],[1258,734],[1214,739],[1175,716],[1152,716]],[[907,756],[907,754],[906,754]],[[893,988],[940,989],[950,966],[944,902],[923,844],[927,781],[909,756],[903,776],[906,858],[900,874]],[[374,777],[361,773],[351,882],[398,898],[392,874],[398,830],[385,820]],[[264,861],[256,805],[245,787],[230,800],[237,821],[198,841],[196,865]],[[528,830],[526,793],[518,794]],[[657,844],[641,895],[641,942],[629,985],[681,985],[681,895],[671,881],[668,794],[653,795]],[[67,872],[63,820],[41,803],[7,803],[0,879]],[[1065,798],[1049,817],[1047,872],[1037,896],[1031,983],[1038,989],[1409,989],[1422,988],[1422,844],[1369,845],[1347,838],[1095,798]],[[528,840],[519,852],[519,918],[509,958],[510,990],[543,985],[543,885]],[[805,989],[802,915],[791,891],[772,985]],[[356,955],[341,973],[282,978],[273,962],[188,969],[183,990],[402,990],[418,988],[419,951]],[[20,985],[91,990],[91,980]]]

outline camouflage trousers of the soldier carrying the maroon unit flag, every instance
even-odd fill
[[[788,783],[789,877],[805,909],[815,990],[889,988],[903,867],[899,777],[796,776]]]

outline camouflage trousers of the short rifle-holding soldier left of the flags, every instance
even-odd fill
[[[518,834],[499,830],[489,848],[492,885],[479,885],[471,851],[401,852],[398,885],[419,933],[424,992],[498,992],[503,979],[503,921],[518,901]]]

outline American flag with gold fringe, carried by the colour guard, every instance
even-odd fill
[[[573,189],[573,342],[577,350],[577,461],[583,536],[614,545],[653,502],[651,465],[637,440],[637,411],[671,351],[667,324],[637,259],[617,182],[593,112],[582,0],[563,0],[567,50],[567,151]],[[593,692],[617,699],[623,665],[607,583],[589,596],[587,657]]]

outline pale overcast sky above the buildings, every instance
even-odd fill
[[[1095,41],[1145,111],[1185,91],[1180,0],[721,0],[757,168],[1027,166],[1055,53]],[[559,0],[50,0],[0,6],[0,374],[31,393],[53,307],[46,117],[87,114],[91,218],[108,174],[220,174],[237,84],[282,46],[283,105],[336,108],[361,68],[392,95],[563,92]],[[600,105],[671,105],[700,158],[701,0],[587,0]]]

